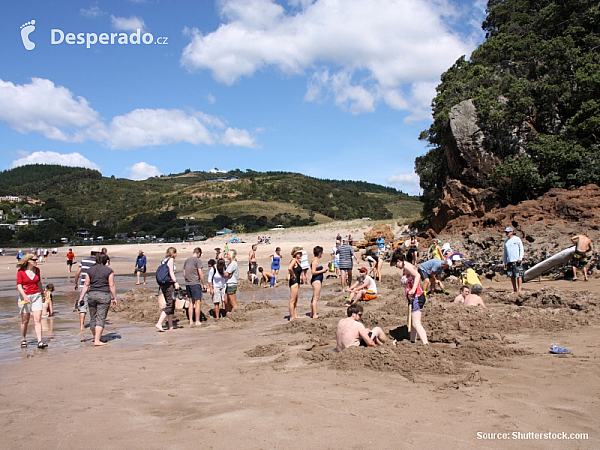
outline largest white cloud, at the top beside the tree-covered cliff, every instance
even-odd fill
[[[216,31],[184,30],[190,43],[183,66],[209,70],[228,85],[269,66],[286,74],[312,72],[307,101],[332,100],[353,114],[384,102],[411,111],[409,120],[430,109],[432,97],[422,98],[422,85],[437,84],[481,40],[481,31],[465,24],[485,17],[479,8],[447,0],[292,0],[287,11],[275,0],[219,5],[223,23]],[[462,28],[451,30],[448,23]]]

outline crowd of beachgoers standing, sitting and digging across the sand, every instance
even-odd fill
[[[521,292],[523,280],[524,247],[521,239],[515,236],[512,227],[504,230],[504,252],[502,264],[507,276],[511,279],[513,291]],[[591,240],[580,234],[572,238],[575,244],[572,266],[574,277],[577,281],[577,269],[582,269],[584,280],[588,280],[587,255],[593,249]],[[179,283],[176,261],[177,249],[169,247],[156,269],[156,282],[158,283],[158,307],[160,315],[156,322],[158,332],[165,332],[175,328],[173,316],[176,308],[185,308],[190,326],[200,326],[203,319],[201,309],[203,297],[206,295],[212,301],[215,320],[226,316],[238,309],[236,293],[240,280],[240,267],[237,261],[237,251],[229,248],[229,241],[224,247],[215,247],[215,255],[208,259],[208,275],[203,273],[203,251],[195,247],[191,255],[185,259],[182,266],[182,284]],[[427,297],[433,295],[439,287],[439,292],[450,293],[443,284],[443,273],[453,267],[460,267],[461,287],[454,303],[465,306],[480,306],[485,308],[481,298],[483,287],[477,273],[468,260],[460,252],[453,251],[450,244],[441,245],[433,239],[426,252],[419,250],[419,240],[415,234],[404,240],[386,242],[379,235],[375,245],[368,251],[361,252],[362,262],[365,264],[358,268],[358,277],[353,282],[354,263],[361,264],[351,235],[335,237],[331,250],[322,246],[312,248],[312,256],[302,246],[294,246],[290,252],[289,263],[282,255],[281,247],[269,254],[268,264],[259,265],[256,255],[257,247],[261,244],[270,244],[270,238],[259,237],[256,244],[251,246],[248,254],[247,279],[258,286],[275,289],[280,287],[280,279],[285,278],[289,287],[289,321],[298,319],[298,298],[301,285],[312,287],[310,313],[312,319],[318,319],[318,302],[325,278],[339,280],[340,292],[345,296],[347,307],[345,319],[340,320],[337,327],[337,350],[343,351],[351,346],[377,346],[387,342],[387,336],[379,327],[367,329],[361,323],[363,307],[359,302],[368,302],[377,298],[377,282],[382,280],[382,267],[389,261],[391,267],[401,271],[401,283],[404,288],[404,298],[408,305],[408,332],[410,341],[415,343],[420,339],[424,345],[428,344],[427,332],[422,324],[422,313]],[[57,249],[51,250],[57,254]],[[37,249],[30,253],[17,252],[17,290],[19,293],[19,314],[21,316],[21,346],[27,347],[27,329],[33,316],[37,348],[45,349],[48,343],[42,337],[41,319],[54,314],[52,305],[53,284],[42,285],[39,263],[47,260],[48,249]],[[419,256],[427,255],[419,262]],[[325,259],[329,258],[328,261]],[[72,248],[67,254],[67,267],[71,272],[76,265]],[[282,268],[286,267],[287,271]],[[147,284],[148,260],[143,250],[140,250],[134,263],[136,285]],[[309,276],[310,271],[310,276]],[[79,313],[79,327],[85,330],[85,320],[89,313],[89,330],[92,333],[93,345],[104,346],[102,333],[105,328],[106,318],[110,306],[118,305],[114,271],[110,268],[110,257],[107,248],[93,247],[90,254],[84,256],[77,266],[74,289],[79,291],[79,296],[74,304],[74,309]],[[206,319],[204,317],[204,319]],[[166,327],[165,327],[166,322]],[[396,342],[394,341],[394,344]]]

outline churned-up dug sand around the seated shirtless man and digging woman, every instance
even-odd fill
[[[591,293],[571,293],[558,289],[541,289],[519,296],[522,306],[511,304],[509,294],[491,294],[499,305],[492,308],[474,308],[457,305],[439,296],[428,299],[423,325],[431,345],[424,347],[408,341],[406,327],[407,305],[398,298],[387,298],[379,308],[367,309],[362,316],[367,328],[381,327],[391,338],[398,340],[378,348],[350,348],[340,354],[335,347],[337,317],[342,312],[326,316],[332,323],[295,321],[279,326],[281,333],[305,333],[303,342],[327,341],[328,348],[313,345],[300,356],[313,363],[327,363],[339,370],[367,368],[382,372],[396,372],[417,380],[420,374],[457,374],[468,370],[470,364],[494,366],[507,358],[526,356],[526,350],[513,348],[506,333],[526,329],[568,330],[578,325],[597,323],[598,296]],[[364,304],[363,304],[364,305]],[[459,382],[457,382],[459,383]],[[460,384],[460,383],[459,383]],[[465,385],[463,383],[463,385]]]

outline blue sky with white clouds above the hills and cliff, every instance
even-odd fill
[[[482,0],[3,0],[0,170],[299,172],[419,193]]]

